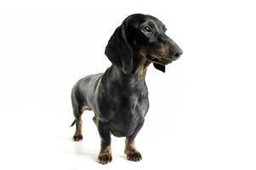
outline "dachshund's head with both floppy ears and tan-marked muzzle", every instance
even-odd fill
[[[123,20],[111,36],[105,55],[124,73],[134,70],[134,57],[142,56],[155,68],[165,71],[165,65],[179,59],[181,48],[166,34],[167,28],[151,15],[132,14]]]

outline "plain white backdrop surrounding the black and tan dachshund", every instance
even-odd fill
[[[1,1],[0,169],[256,169],[253,1]],[[155,15],[184,50],[163,74],[136,139],[143,156],[97,163],[100,137],[85,112],[75,143],[71,88],[105,71],[104,50],[129,14]]]

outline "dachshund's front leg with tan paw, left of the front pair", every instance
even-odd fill
[[[107,122],[97,121],[98,131],[100,133],[100,154],[98,161],[101,164],[106,164],[112,161],[111,155],[111,133]]]

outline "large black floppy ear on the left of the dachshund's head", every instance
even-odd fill
[[[105,47],[105,55],[111,60],[113,65],[127,74],[133,71],[134,60],[133,50],[127,40],[127,20],[118,26]]]

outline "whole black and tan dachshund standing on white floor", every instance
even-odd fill
[[[82,139],[82,112],[94,111],[101,148],[98,160],[106,164],[112,160],[111,133],[126,137],[125,154],[130,161],[141,160],[134,139],[143,126],[149,109],[145,84],[147,67],[153,63],[157,70],[183,53],[179,46],[165,35],[166,27],[151,15],[132,14],[123,20],[111,36],[105,55],[111,67],[105,73],[90,75],[79,80],[71,92],[74,124],[73,139]]]

